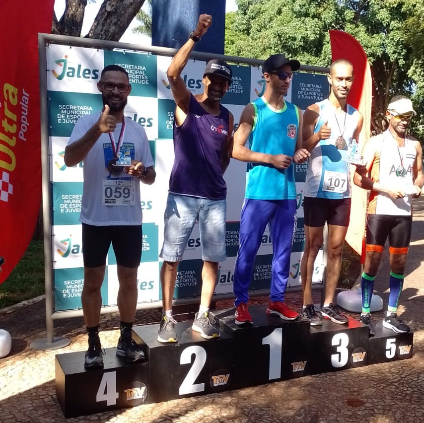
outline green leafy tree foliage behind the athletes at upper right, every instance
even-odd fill
[[[300,63],[329,66],[328,31],[346,31],[371,66],[371,132],[385,129],[390,98],[406,94],[419,112],[411,132],[423,139],[424,0],[237,0],[237,5],[237,12],[227,14],[225,54],[266,59],[282,52]]]

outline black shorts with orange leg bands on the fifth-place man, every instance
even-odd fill
[[[366,221],[366,250],[383,250],[387,237],[391,253],[406,254],[411,241],[412,216],[368,214]],[[380,247],[375,248],[374,246]]]

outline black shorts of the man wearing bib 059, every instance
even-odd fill
[[[118,265],[131,268],[140,266],[143,247],[141,225],[93,226],[82,223],[84,266],[104,266],[111,243]]]

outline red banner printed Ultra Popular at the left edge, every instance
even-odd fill
[[[0,256],[3,282],[25,252],[41,201],[38,32],[54,0],[0,1]],[[45,141],[47,142],[47,140]]]

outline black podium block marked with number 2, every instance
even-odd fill
[[[178,322],[178,343],[157,341],[159,325],[136,326],[133,338],[147,352],[149,402],[210,394],[232,387],[234,339],[206,340],[191,329],[193,321]]]

